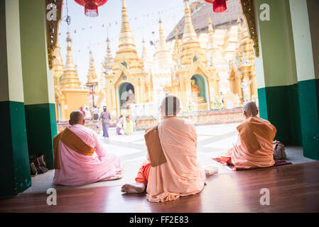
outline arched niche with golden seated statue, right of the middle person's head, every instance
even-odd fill
[[[198,110],[209,110],[210,101],[208,99],[207,80],[202,74],[195,74],[191,78],[192,96],[198,104]]]

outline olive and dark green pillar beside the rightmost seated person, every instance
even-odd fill
[[[261,4],[268,4],[270,20],[259,18]],[[260,56],[256,77],[260,116],[277,128],[276,140],[302,145],[298,79],[288,0],[256,0]]]

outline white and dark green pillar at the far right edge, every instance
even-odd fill
[[[319,160],[318,0],[289,0],[296,55],[303,155]]]

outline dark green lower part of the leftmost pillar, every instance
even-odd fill
[[[31,187],[24,105],[0,101],[0,196],[12,196]]]

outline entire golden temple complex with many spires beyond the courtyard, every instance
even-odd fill
[[[228,1],[229,11],[234,9],[235,13],[229,17],[227,12],[224,21],[204,1],[189,4],[185,0],[184,4],[185,15],[168,38],[159,19],[153,57],[147,55],[145,40],[139,57],[126,2],[122,0],[119,46],[112,57],[107,38],[107,54],[99,76],[90,52],[87,84],[97,84],[91,92],[80,86],[69,34],[64,67],[60,48],[54,53],[57,116],[65,120],[70,111],[80,106],[92,108],[93,104],[99,108],[106,105],[114,117],[129,115],[132,106],[157,104],[167,94],[178,96],[183,111],[188,112],[234,109],[245,101],[257,101],[254,42],[240,4]]]

